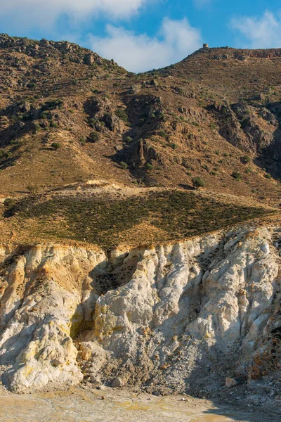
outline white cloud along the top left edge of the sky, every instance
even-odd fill
[[[150,0],[151,1],[151,0]],[[0,18],[13,27],[48,27],[62,15],[72,20],[86,20],[95,15],[108,19],[129,18],[149,0],[2,0]]]

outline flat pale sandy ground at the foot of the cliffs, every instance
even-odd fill
[[[104,398],[102,398],[102,396]],[[276,409],[277,411],[277,409]],[[1,422],[280,422],[280,414],[107,388],[0,396]]]

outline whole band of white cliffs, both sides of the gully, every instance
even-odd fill
[[[178,389],[213,369],[241,374],[264,350],[279,260],[273,231],[246,226],[109,260],[84,248],[0,248],[2,381],[16,392],[70,385],[79,367],[112,380],[110,362],[122,383]]]

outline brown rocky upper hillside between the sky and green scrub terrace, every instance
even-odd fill
[[[133,75],[75,44],[2,34],[0,194],[199,176],[277,205],[280,65],[280,50],[201,49]]]

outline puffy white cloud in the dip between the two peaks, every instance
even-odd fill
[[[162,68],[176,63],[200,48],[200,30],[188,20],[164,18],[157,37],[136,34],[123,27],[107,25],[105,38],[89,36],[91,49],[133,72]]]

